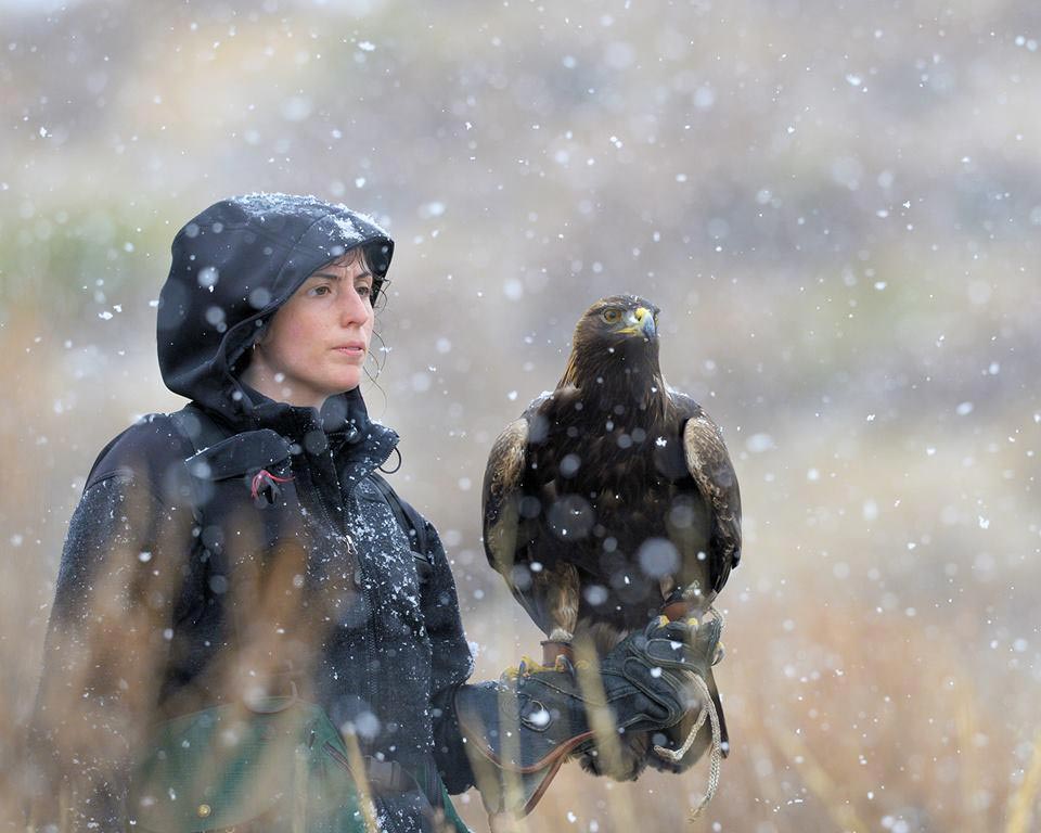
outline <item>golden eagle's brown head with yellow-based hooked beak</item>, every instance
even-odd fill
[[[612,295],[586,310],[575,325],[571,356],[561,384],[583,387],[597,377],[658,370],[658,308],[639,295]]]

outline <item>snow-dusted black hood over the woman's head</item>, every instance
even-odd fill
[[[359,246],[375,303],[394,241],[370,217],[290,194],[236,196],[204,210],[174,239],[159,294],[166,386],[232,419],[249,409],[236,362],[308,275]]]

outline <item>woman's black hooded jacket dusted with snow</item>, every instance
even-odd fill
[[[226,438],[207,441],[190,412],[139,421],[102,451],[70,522],[33,734],[37,786],[63,791],[76,828],[133,819],[129,771],[156,720],[290,690],[373,760],[471,784],[450,704],[472,659],[448,562],[427,526],[421,579],[371,477],[397,435],[357,389],[319,413],[240,381],[279,307],[358,246],[378,292],[386,232],[278,194],[218,203],[174,242],[163,377]],[[416,796],[376,800],[384,829],[426,829]]]

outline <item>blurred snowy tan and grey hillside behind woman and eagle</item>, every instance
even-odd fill
[[[478,678],[540,635],[487,566],[491,441],[595,298],[663,309],[723,426],[733,751],[526,829],[1041,830],[1041,7],[1019,0],[0,0],[0,806],[68,516],[171,410],[155,299],[234,193],[398,248],[370,411]],[[476,793],[459,807],[487,830]]]

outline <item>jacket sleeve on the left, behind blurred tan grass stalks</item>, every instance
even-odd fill
[[[151,479],[127,467],[92,477],[69,522],[29,727],[30,829],[126,826],[130,756],[154,714],[181,581],[183,559],[167,553],[191,540],[190,511]]]

